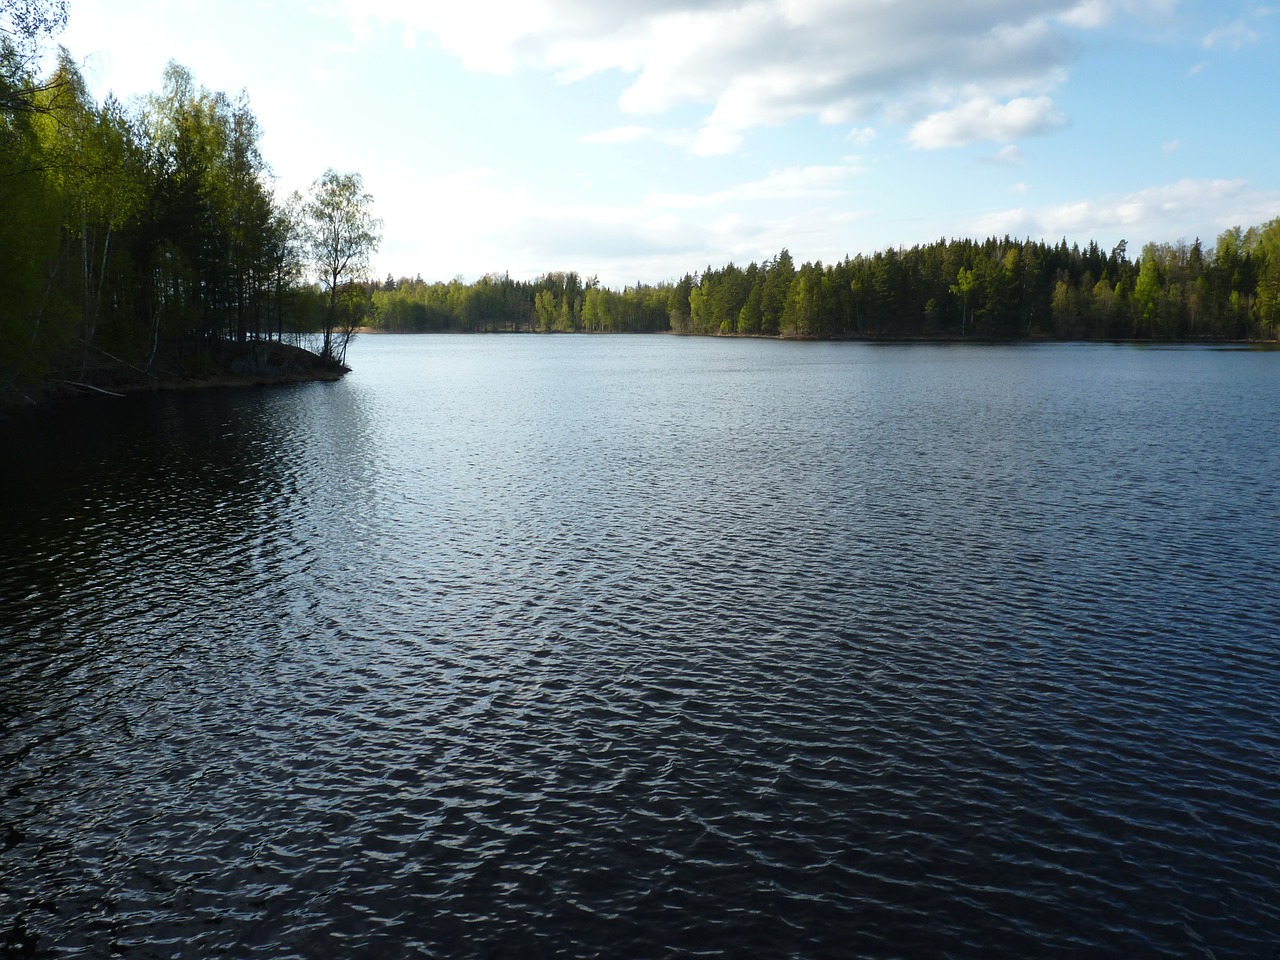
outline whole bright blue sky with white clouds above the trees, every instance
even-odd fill
[[[247,92],[280,195],[361,174],[378,276],[622,288],[1280,216],[1280,5],[70,0],[91,91]]]

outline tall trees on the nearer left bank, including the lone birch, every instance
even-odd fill
[[[0,389],[297,330],[340,364],[378,243],[358,174],[276,198],[248,96],[177,63],[129,105],[96,102],[65,49],[40,76],[65,22],[64,0],[0,3]]]

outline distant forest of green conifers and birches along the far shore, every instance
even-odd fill
[[[1130,260],[1009,237],[940,239],[837,264],[783,250],[675,283],[600,287],[576,273],[476,283],[388,276],[372,324],[398,332],[673,332],[801,338],[1275,339],[1280,219],[1211,251],[1148,243]]]

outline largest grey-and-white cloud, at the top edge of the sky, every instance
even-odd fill
[[[1079,29],[1175,0],[335,1],[356,23],[399,24],[475,70],[531,68],[564,82],[617,70],[630,78],[626,113],[708,108],[690,146],[714,155],[797,118],[852,125],[897,110],[914,123],[954,104],[965,106],[934,113],[915,138],[1043,131],[1061,122],[1043,93],[1075,59]],[[964,114],[978,104],[1002,106],[978,123]],[[1028,108],[1034,116],[1020,116]]]

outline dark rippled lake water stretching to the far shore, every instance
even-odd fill
[[[0,952],[1276,955],[1280,353],[352,361],[0,425]]]

